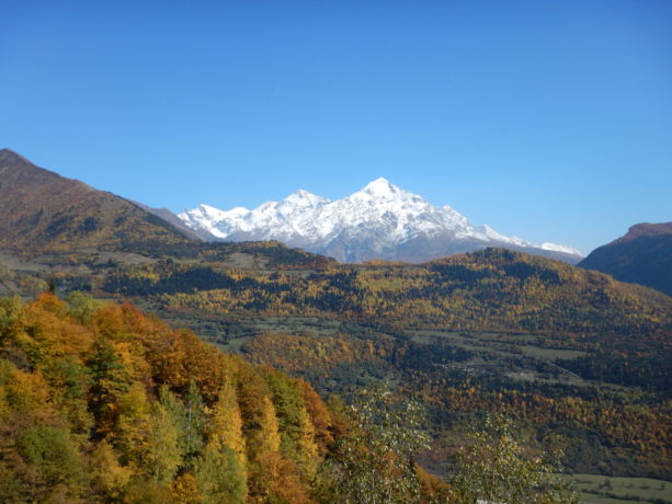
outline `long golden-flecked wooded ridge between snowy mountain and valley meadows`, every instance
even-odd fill
[[[503,249],[419,265],[340,265],[303,277],[282,272],[201,275],[198,267],[184,264],[161,267],[161,272],[145,265],[117,270],[102,285],[130,296],[163,295],[173,309],[217,313],[345,317],[387,327],[457,331],[647,337],[672,333],[669,297],[560,261]],[[195,285],[202,276],[207,283]]]

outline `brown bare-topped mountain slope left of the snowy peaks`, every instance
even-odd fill
[[[38,168],[10,149],[0,150],[0,215],[5,250],[122,250],[190,241],[135,203]]]

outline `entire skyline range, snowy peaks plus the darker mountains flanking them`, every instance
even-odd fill
[[[297,191],[253,210],[201,205],[175,216],[38,168],[10,149],[0,150],[0,249],[20,252],[170,253],[203,240],[274,240],[342,262],[422,262],[491,247],[581,260],[569,247],[535,245],[475,226],[449,206],[433,206],[385,179],[338,201]],[[633,226],[579,265],[672,295],[672,222]]]

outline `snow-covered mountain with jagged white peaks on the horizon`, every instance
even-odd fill
[[[237,207],[224,211],[201,205],[178,217],[206,239],[278,240],[342,262],[421,262],[487,247],[522,250],[571,263],[582,257],[570,247],[534,245],[485,225],[474,226],[451,206],[433,206],[385,179],[337,201],[299,190],[253,210]]]

